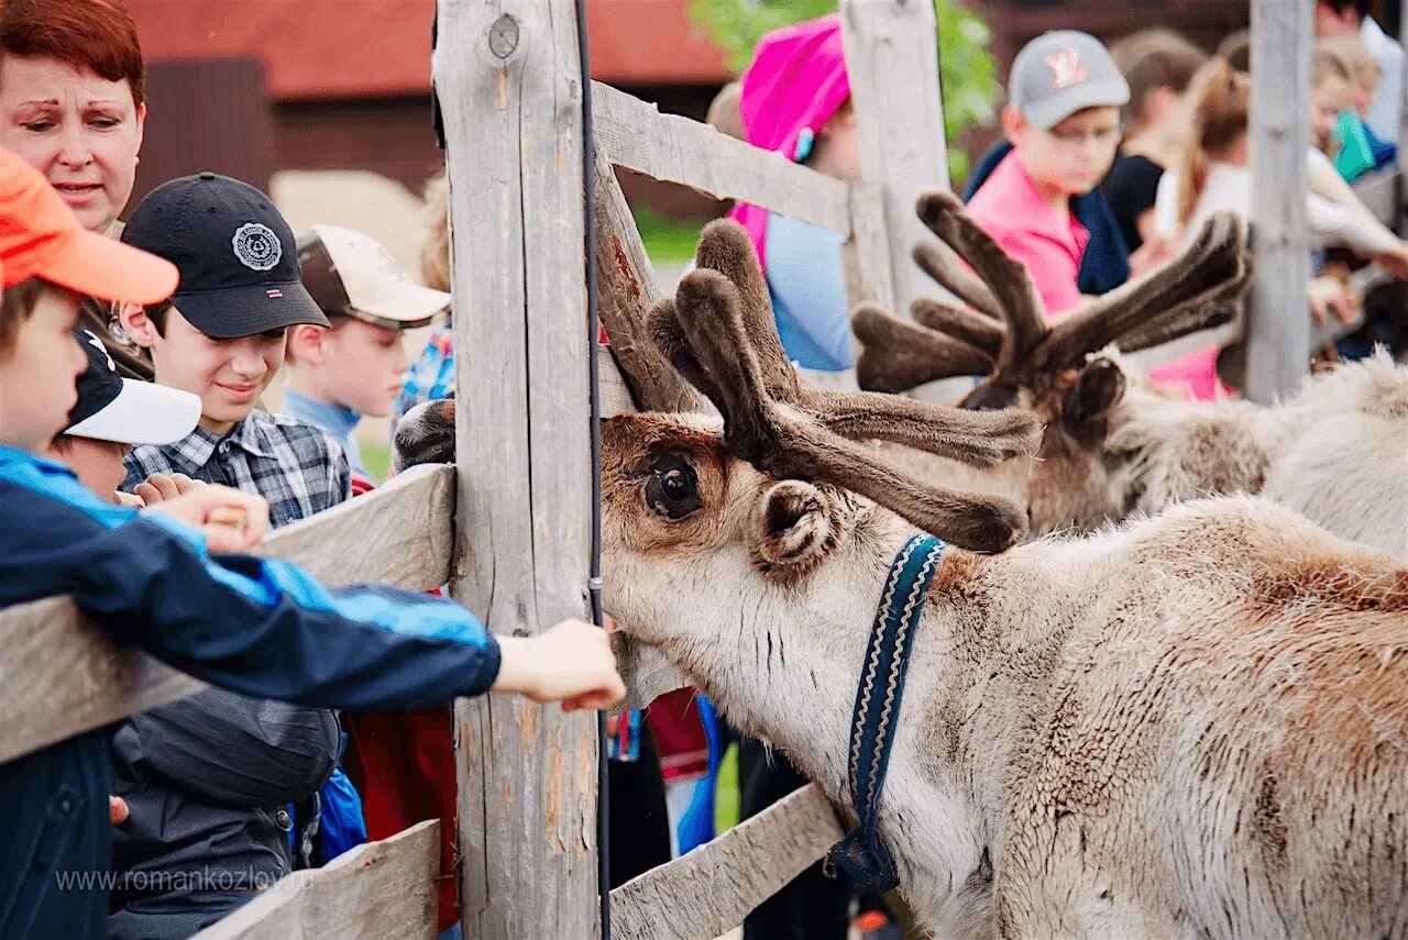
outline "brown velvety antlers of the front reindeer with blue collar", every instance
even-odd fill
[[[773,476],[853,490],[963,547],[1000,552],[1021,538],[1025,512],[1015,502],[926,484],[856,440],[891,440],[988,464],[1035,450],[1039,431],[1029,415],[811,388],[783,352],[743,229],[711,222],[697,259],[674,300],[650,312],[650,332],[680,374],[718,407],[732,453]]]

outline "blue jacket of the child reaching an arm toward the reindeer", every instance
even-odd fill
[[[0,519],[0,609],[66,594],[115,640],[244,695],[410,711],[484,692],[498,674],[497,643],[456,604],[210,557],[199,532],[107,505],[11,447]],[[110,758],[99,729],[0,766],[0,937],[103,936]]]

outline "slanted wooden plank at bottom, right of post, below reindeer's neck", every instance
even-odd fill
[[[815,784],[611,892],[614,940],[712,940],[826,854],[842,834]]]

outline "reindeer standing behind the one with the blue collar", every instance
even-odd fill
[[[974,485],[1031,507],[1035,533],[1094,529],[1209,494],[1264,493],[1356,542],[1408,556],[1408,369],[1385,353],[1305,383],[1277,407],[1187,402],[1143,384],[1121,356],[1231,318],[1247,284],[1242,231],[1221,220],[1170,267],[1049,322],[1026,269],[948,193],[919,217],[969,270],[935,245],[918,263],[969,310],[914,304],[917,322],[865,305],[853,322],[862,386],[901,391],[948,376],[984,376],[963,407],[1019,404],[1046,425],[1041,460]],[[1149,318],[1178,284],[1224,277],[1221,291]],[[911,460],[915,463],[915,460]],[[919,462],[956,478],[962,471]]]

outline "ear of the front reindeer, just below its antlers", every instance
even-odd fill
[[[783,480],[763,494],[749,550],[765,577],[805,577],[835,553],[845,533],[838,497],[801,480]]]

